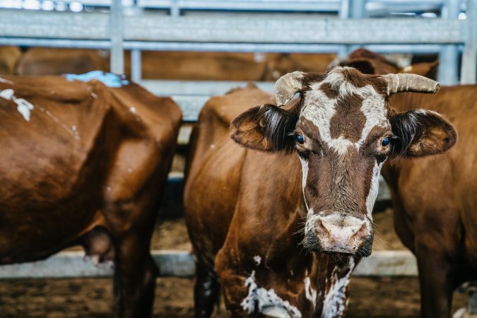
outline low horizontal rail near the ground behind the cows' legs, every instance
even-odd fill
[[[194,276],[195,264],[187,251],[155,250],[160,276]],[[0,266],[0,279],[108,277],[112,269],[94,266],[83,252],[60,252],[45,261]],[[375,251],[356,267],[354,276],[417,276],[416,259],[408,251]]]

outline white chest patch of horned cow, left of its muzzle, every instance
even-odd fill
[[[255,282],[255,271],[245,280],[249,294],[240,305],[248,314],[252,314],[257,305],[259,312],[270,317],[301,318],[302,313],[297,307],[290,305],[288,300],[281,299],[275,290],[259,288]]]

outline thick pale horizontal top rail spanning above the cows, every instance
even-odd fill
[[[459,44],[463,20],[300,19],[230,16],[125,16],[125,41],[261,44]],[[0,11],[0,37],[106,40],[107,16],[97,13]]]

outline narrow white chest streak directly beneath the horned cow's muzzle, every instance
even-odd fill
[[[345,276],[338,278],[338,270],[335,267],[331,273],[331,285],[328,293],[324,295],[322,318],[342,317],[347,305],[346,287],[350,282],[351,273],[355,268],[355,261],[353,257],[348,258],[349,271]]]

